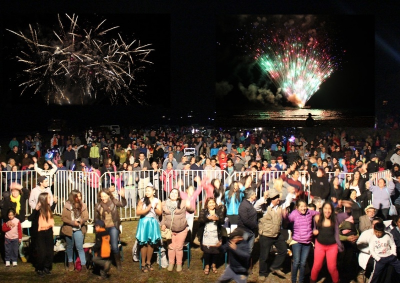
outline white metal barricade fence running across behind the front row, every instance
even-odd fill
[[[384,179],[386,182],[386,172],[380,171],[370,174],[370,180],[375,181],[375,176]],[[14,173],[16,172],[16,173]],[[35,171],[14,171],[14,172],[1,172],[0,174],[0,198],[2,197],[3,191],[9,190],[9,184],[17,181],[21,183],[23,187],[28,190],[32,190],[36,187],[36,180],[39,174]],[[43,173],[46,173],[43,171]],[[47,172],[48,173],[48,172]],[[125,198],[127,205],[120,208],[119,214],[121,219],[137,219],[136,205],[137,200],[141,199],[145,195],[145,188],[149,182],[155,187],[157,197],[162,201],[166,200],[169,196],[169,192],[173,188],[178,188],[180,191],[185,190],[188,186],[193,186],[196,190],[200,184],[195,180],[196,177],[205,179],[205,186],[211,183],[213,179],[219,179],[221,185],[228,189],[232,181],[240,181],[242,177],[251,176],[252,181],[257,184],[256,194],[257,198],[262,196],[263,191],[268,188],[269,180],[278,178],[284,174],[284,171],[244,171],[244,172],[232,172],[229,174],[224,170],[171,170],[166,172],[164,170],[147,170],[147,171],[121,171],[105,173],[98,177],[97,173],[94,172],[80,172],[80,171],[57,171],[53,176],[48,176],[49,184],[53,183],[54,195],[58,197],[58,202],[54,211],[54,214],[61,215],[64,203],[68,199],[68,195],[71,190],[79,190],[82,194],[82,200],[87,205],[89,214],[89,221],[91,222],[94,218],[94,208],[97,203],[97,194],[102,187],[109,188],[110,184],[115,185],[115,191],[113,196],[120,199],[118,192],[121,188],[125,189]],[[309,201],[309,189],[310,189],[310,178],[306,171],[299,171],[299,181],[303,185],[304,192],[308,196]],[[348,182],[347,176],[351,176],[352,173],[340,173],[339,179],[342,180],[343,188],[345,183]],[[19,178],[20,177],[20,178]],[[288,176],[291,177],[290,175]],[[328,180],[334,177],[334,173],[327,173]],[[18,179],[19,178],[19,179]],[[206,193],[203,189],[201,194],[197,198],[195,217],[198,217],[199,211],[203,208]],[[201,202],[201,203],[200,203]],[[31,209],[26,203],[26,216],[30,215]]]

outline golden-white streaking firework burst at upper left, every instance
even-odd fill
[[[21,37],[29,47],[16,59],[25,64],[23,73],[27,79],[22,93],[33,88],[34,94],[44,94],[47,104],[71,103],[71,97],[79,97],[84,104],[98,97],[107,97],[111,104],[127,103],[131,98],[142,104],[138,93],[142,92],[137,76],[146,65],[151,44],[140,45],[133,40],[125,43],[118,33],[109,39],[108,32],[118,28],[103,28],[105,20],[96,27],[81,28],[78,16],[69,16],[66,30],[58,15],[59,30],[53,30],[53,38],[41,38],[39,27],[29,24],[30,36],[21,31],[8,31]]]

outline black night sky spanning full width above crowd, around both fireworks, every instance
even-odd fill
[[[312,107],[326,104],[329,97],[332,103],[340,101],[339,106],[350,104],[351,107],[362,108],[371,112],[374,104],[376,110],[381,107],[381,100],[388,98],[389,106],[396,108],[400,97],[400,41],[398,39],[399,20],[394,4],[376,1],[354,1],[340,3],[338,1],[302,1],[293,4],[293,1],[282,0],[276,3],[265,1],[6,1],[2,3],[0,15],[0,82],[2,103],[0,111],[14,118],[14,124],[19,120],[26,123],[36,123],[34,117],[38,113],[48,112],[51,107],[40,101],[29,105],[22,105],[19,98],[21,91],[11,82],[16,79],[16,73],[9,67],[7,40],[13,38],[12,44],[18,43],[18,38],[5,30],[27,29],[28,23],[37,18],[41,23],[43,14],[96,14],[107,18],[107,25],[119,25],[123,34],[129,38],[137,37],[143,43],[153,43],[155,51],[151,53],[154,66],[149,68],[149,77],[146,77],[146,101],[154,105],[142,109],[140,113],[147,113],[147,120],[152,123],[162,123],[158,113],[161,109],[169,109],[170,113],[185,117],[185,113],[194,110],[199,113],[215,111],[215,83],[225,79],[225,72],[219,71],[218,64],[223,59],[220,56],[217,36],[221,31],[219,19],[224,15],[239,14],[315,14],[329,13],[329,20],[334,23],[333,31],[338,42],[342,43],[346,55],[343,57],[342,70],[332,74],[320,87],[318,93],[309,101]],[[349,17],[343,16],[349,15]],[[359,16],[362,15],[362,16]],[[93,16],[93,15],[91,15]],[[50,24],[57,21],[51,19]],[[98,22],[94,20],[94,22]],[[139,28],[136,28],[139,27]],[[379,36],[379,37],[377,37]],[[374,39],[376,37],[378,39]],[[232,36],[231,41],[236,37]],[[372,44],[374,40],[374,44]],[[344,65],[346,62],[346,65]],[[232,62],[233,63],[233,62]],[[17,62],[11,63],[16,65]],[[230,70],[231,71],[231,70]],[[11,78],[11,79],[10,79]],[[226,78],[229,79],[229,78]],[[11,84],[10,84],[11,83]],[[237,95],[237,94],[236,94]],[[331,95],[335,98],[330,98]],[[338,97],[336,97],[338,96]],[[315,100],[315,101],[314,101]],[[246,103],[240,101],[244,106]],[[229,107],[228,99],[223,100],[219,107]],[[249,105],[251,106],[251,105]],[[30,107],[30,108],[29,108]],[[62,106],[63,107],[63,106]],[[68,112],[64,108],[56,107],[57,111],[48,116],[56,118],[57,113]],[[126,108],[128,107],[128,108]],[[93,105],[85,109],[85,113],[101,118],[104,109],[111,109],[108,119],[136,119],[132,103],[128,106],[111,108],[107,105]],[[218,109],[217,108],[217,109]],[[389,110],[389,109],[387,109]],[[109,111],[109,110],[108,110]],[[218,111],[218,110],[217,110]],[[372,110],[373,111],[373,110]],[[100,114],[99,114],[100,113]],[[137,112],[139,113],[139,112]],[[21,117],[21,118],[19,118]],[[140,116],[140,119],[143,115]],[[25,120],[24,120],[25,119]],[[47,119],[47,117],[45,117]],[[207,118],[205,118],[207,119]],[[167,121],[166,121],[167,122]],[[202,123],[206,123],[203,121]],[[183,124],[183,123],[182,123]],[[4,127],[2,123],[1,127]]]

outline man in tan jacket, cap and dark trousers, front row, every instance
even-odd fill
[[[280,267],[285,260],[287,252],[284,237],[280,234],[282,217],[286,217],[286,209],[279,206],[279,192],[274,188],[269,189],[266,212],[262,218],[258,220],[260,245],[258,280],[260,282],[265,281],[265,278],[268,276],[268,256],[272,246],[275,246],[277,249],[277,255],[269,267],[269,271],[280,277],[285,276],[285,274],[280,271]]]

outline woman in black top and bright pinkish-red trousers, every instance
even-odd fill
[[[351,208],[349,201],[341,201],[341,205]],[[343,244],[339,239],[338,225],[349,216],[348,213],[334,213],[331,202],[322,205],[321,213],[314,216],[316,226],[313,234],[315,236],[314,265],[311,270],[310,283],[315,283],[322,268],[323,260],[326,264],[333,283],[339,282],[339,273],[336,267],[337,253],[343,251]]]

